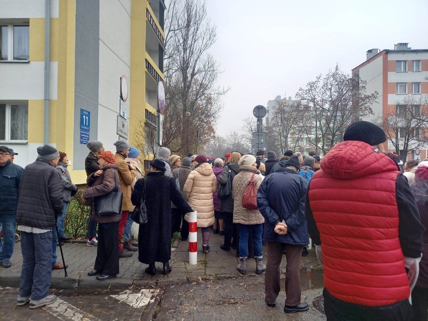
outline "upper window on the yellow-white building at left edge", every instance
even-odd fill
[[[0,60],[27,61],[30,58],[30,27],[0,26]]]

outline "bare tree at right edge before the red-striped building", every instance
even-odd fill
[[[405,162],[409,151],[428,145],[428,95],[406,96],[396,101],[380,125],[388,145]]]

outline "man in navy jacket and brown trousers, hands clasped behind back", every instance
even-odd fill
[[[299,159],[293,155],[284,167],[266,176],[257,191],[257,207],[265,218],[264,240],[267,241],[265,300],[270,307],[276,305],[280,290],[279,264],[285,250],[286,313],[309,308],[300,301],[300,260],[309,236],[304,214],[307,181],[299,175],[299,170]]]

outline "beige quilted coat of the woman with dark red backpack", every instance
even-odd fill
[[[262,183],[262,178],[259,175],[257,168],[249,165],[239,167],[240,172],[233,179],[233,223],[254,225],[263,224],[265,219],[257,209],[248,209],[242,206],[242,196],[244,190],[250,182],[251,176],[254,175],[254,183],[259,188]]]

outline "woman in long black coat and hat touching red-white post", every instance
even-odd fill
[[[138,231],[138,260],[149,264],[146,272],[155,275],[155,262],[163,262],[163,273],[171,271],[171,201],[183,213],[192,211],[172,177],[165,176],[165,163],[159,159],[150,162],[150,173],[134,186],[131,201],[139,206],[146,200],[147,223]]]

